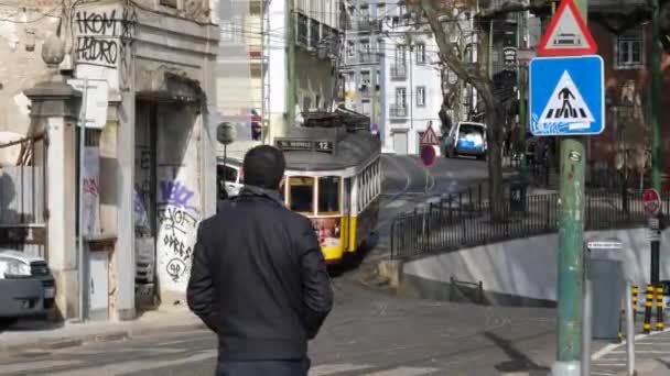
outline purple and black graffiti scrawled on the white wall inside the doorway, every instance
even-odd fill
[[[158,204],[161,257],[166,259],[165,273],[174,284],[185,284],[191,267],[199,212],[195,204],[195,191],[184,181],[159,181]]]

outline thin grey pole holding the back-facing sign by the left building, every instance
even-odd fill
[[[86,291],[86,274],[84,273],[84,148],[86,147],[86,122],[88,114],[86,113],[86,101],[88,97],[88,78],[84,78],[84,100],[82,106],[84,107],[84,119],[79,119],[79,197],[78,197],[78,229],[77,229],[77,277],[79,279],[79,321],[85,320],[85,291]]]

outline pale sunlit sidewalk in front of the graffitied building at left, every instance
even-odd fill
[[[205,328],[185,306],[161,307],[141,313],[131,321],[88,321],[50,323],[20,321],[0,332],[0,352],[35,349],[62,349],[89,342],[130,339],[159,332],[188,331]]]

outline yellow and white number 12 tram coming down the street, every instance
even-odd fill
[[[275,140],[287,158],[284,203],[312,220],[326,263],[355,253],[375,231],[381,192],[380,143],[366,131],[294,128]],[[240,161],[224,169],[219,187],[241,187]]]

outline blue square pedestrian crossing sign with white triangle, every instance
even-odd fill
[[[603,133],[605,73],[601,56],[533,58],[529,78],[533,135]]]

